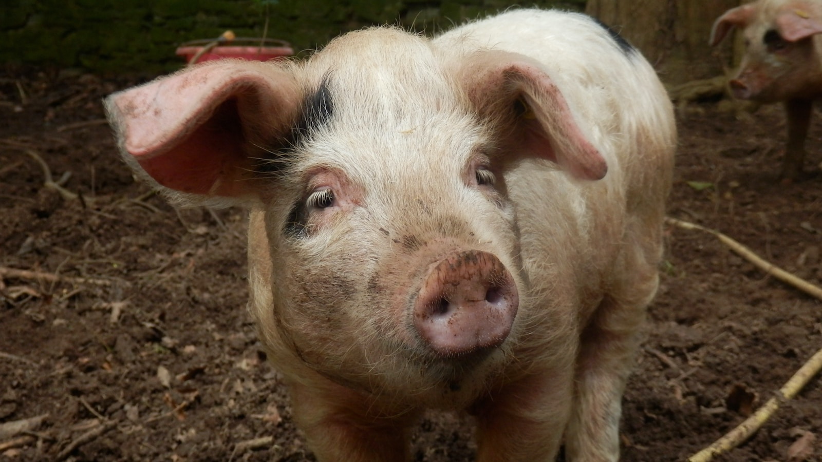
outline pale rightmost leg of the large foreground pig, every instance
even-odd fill
[[[622,391],[640,344],[644,312],[644,303],[606,298],[584,330],[574,413],[566,432],[566,460],[619,460]]]

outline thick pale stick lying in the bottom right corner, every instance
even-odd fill
[[[820,372],[820,369],[822,369],[822,349],[810,357],[810,359],[793,374],[793,377],[778,390],[774,398],[768,400],[760,409],[757,409],[749,418],[746,418],[744,422],[740,423],[739,426],[727,432],[724,437],[714,441],[711,446],[700,450],[700,452],[695,455],[691,455],[688,462],[709,462],[709,460],[713,460],[714,456],[739,446],[768,421],[783,400],[791,400],[796,396],[802,387],[810,381],[810,378]]]

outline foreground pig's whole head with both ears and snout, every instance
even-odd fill
[[[287,374],[459,404],[528,335],[506,174],[607,165],[538,63],[451,54],[364,30],[307,62],[210,62],[107,100],[137,171],[253,211],[252,313]]]

